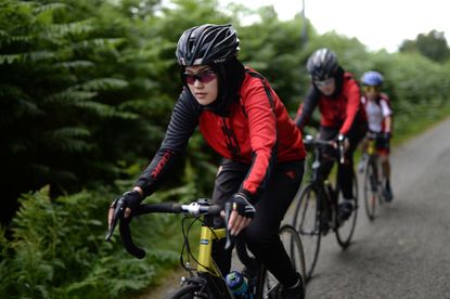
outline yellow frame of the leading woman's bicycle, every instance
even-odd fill
[[[200,233],[200,246],[198,246],[198,272],[208,272],[216,276],[221,276],[219,269],[211,258],[213,240],[221,239],[226,237],[226,229],[211,229],[206,225],[202,225]],[[213,272],[211,272],[213,270]]]

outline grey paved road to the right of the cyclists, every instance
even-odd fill
[[[307,298],[450,298],[450,119],[391,162],[394,202],[371,223],[360,197],[353,243],[323,238]]]

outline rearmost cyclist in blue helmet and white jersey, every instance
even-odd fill
[[[389,143],[393,131],[393,109],[386,93],[381,92],[383,75],[376,70],[365,72],[361,77],[363,94],[361,102],[368,115],[369,131],[376,134],[375,147],[383,168],[384,197],[393,200],[390,187]],[[367,143],[362,143],[364,150]],[[360,168],[361,169],[361,168]]]

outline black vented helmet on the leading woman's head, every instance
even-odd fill
[[[205,24],[181,35],[176,55],[181,66],[219,64],[236,56],[239,50],[233,26]]]

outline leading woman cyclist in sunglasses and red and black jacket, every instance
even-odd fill
[[[239,44],[231,25],[206,24],[181,35],[176,55],[184,87],[159,150],[124,195],[126,214],[170,176],[200,127],[223,158],[213,200],[233,204],[227,224],[231,234],[242,233],[250,251],[284,286],[284,298],[301,298],[301,280],[278,234],[303,178],[301,133],[269,82],[237,60]],[[222,218],[216,220],[218,226],[226,225]],[[213,256],[227,274],[231,250],[215,244]]]

